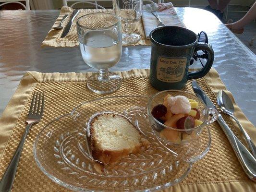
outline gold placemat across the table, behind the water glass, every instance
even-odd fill
[[[63,29],[61,30],[55,30],[53,27],[58,26],[61,22],[62,17],[65,14],[71,15],[73,12],[73,9],[70,7],[62,7],[61,8],[61,13],[55,23],[53,24],[52,28],[50,29],[48,35],[45,37],[45,40],[42,42],[41,47],[74,47],[78,46],[78,41],[77,41],[77,31],[76,31],[76,20],[86,14],[92,13],[92,12],[113,12],[112,9],[81,9],[80,13],[75,17],[73,24],[71,26],[71,29],[67,36],[61,38],[61,34],[63,33],[64,27],[69,21],[69,17],[63,22]],[[150,45],[150,40],[146,39],[144,28],[143,28],[143,23],[142,19],[134,24],[132,24],[132,32],[139,34],[141,36],[140,41],[138,41],[136,44],[132,45]],[[122,32],[123,32],[123,24],[122,24]]]

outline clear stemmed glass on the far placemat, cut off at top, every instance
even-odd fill
[[[113,0],[113,9],[124,23],[122,44],[134,44],[140,40],[140,35],[132,33],[131,24],[138,21],[142,15],[142,0]]]

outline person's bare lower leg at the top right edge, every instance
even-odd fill
[[[243,29],[246,24],[249,24],[254,19],[256,19],[256,2],[242,19],[230,25],[232,25],[232,29]]]

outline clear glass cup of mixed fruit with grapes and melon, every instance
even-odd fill
[[[187,97],[191,105],[189,113],[171,113],[170,106],[168,107],[170,96]],[[191,93],[165,90],[150,97],[147,115],[154,134],[161,142],[170,146],[194,142],[207,125],[217,120],[218,111],[207,108],[200,98]]]

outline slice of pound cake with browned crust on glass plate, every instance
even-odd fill
[[[103,164],[139,152],[149,142],[125,117],[114,113],[99,113],[89,121],[91,152]]]

